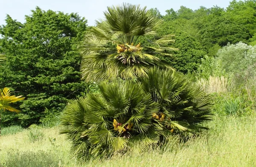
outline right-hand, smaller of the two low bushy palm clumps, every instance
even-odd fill
[[[192,134],[207,129],[202,123],[212,119],[212,99],[201,86],[178,72],[157,68],[150,69],[142,82],[145,92],[160,107],[154,118],[163,124],[166,134]]]

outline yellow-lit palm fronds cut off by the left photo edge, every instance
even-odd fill
[[[0,110],[6,111],[9,110],[11,112],[19,112],[19,110],[14,109],[10,106],[11,103],[15,103],[17,101],[24,100],[24,97],[11,95],[9,88],[0,89]],[[1,115],[0,115],[0,123],[1,123]],[[1,134],[1,127],[0,127]]]

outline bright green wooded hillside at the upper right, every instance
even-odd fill
[[[256,1],[233,0],[227,9],[201,6],[192,10],[184,6],[166,10],[163,19],[175,30],[187,32],[200,41],[207,55],[215,56],[220,46],[239,41],[253,44],[256,31]]]

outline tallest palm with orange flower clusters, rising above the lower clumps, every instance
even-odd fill
[[[158,57],[172,56],[170,52],[177,50],[168,46],[175,35],[156,36],[154,30],[163,20],[146,8],[128,3],[108,7],[104,15],[105,20],[96,21],[97,26],[91,27],[79,47],[82,79],[131,79],[146,76],[148,68],[155,65],[171,68]]]

